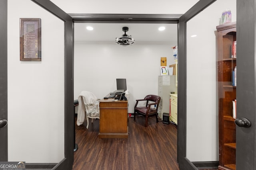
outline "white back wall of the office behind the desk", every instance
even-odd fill
[[[102,99],[116,90],[116,78],[126,78],[130,92],[128,112],[134,112],[136,99],[158,95],[160,59],[167,57],[167,66],[174,64],[170,43],[136,43],[123,47],[115,42],[82,42],[74,45],[74,99],[81,91],[93,92]]]

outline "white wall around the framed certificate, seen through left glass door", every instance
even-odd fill
[[[41,18],[42,61],[20,61],[20,18]],[[64,158],[64,22],[30,0],[8,0],[8,161]]]

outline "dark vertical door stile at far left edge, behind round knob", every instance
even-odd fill
[[[8,121],[7,104],[7,0],[0,0],[0,117]],[[8,126],[0,129],[0,161],[8,161]]]

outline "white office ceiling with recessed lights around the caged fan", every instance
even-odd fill
[[[94,29],[89,31],[87,26]],[[158,27],[164,26],[164,31]],[[127,35],[136,42],[177,42],[177,24],[159,23],[74,23],[75,41],[115,41],[122,37],[122,27],[128,27]]]

